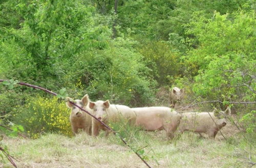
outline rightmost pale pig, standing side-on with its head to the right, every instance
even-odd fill
[[[210,113],[183,113],[179,131],[181,133],[184,131],[193,131],[199,134],[207,133],[209,138],[215,138],[218,131],[227,124],[226,116],[230,115],[230,113],[229,107],[219,113],[216,113],[216,111]],[[214,119],[215,122],[212,121],[211,118]]]

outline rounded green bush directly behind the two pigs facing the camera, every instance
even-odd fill
[[[85,52],[77,56],[67,78],[85,90],[91,99],[140,105],[153,101],[155,81],[147,76],[143,57],[133,46],[135,41],[117,38],[105,50]],[[82,94],[81,94],[82,95]]]

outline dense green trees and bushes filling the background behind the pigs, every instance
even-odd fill
[[[0,79],[131,107],[168,106],[156,95],[177,86],[183,105],[229,105],[255,143],[255,103],[244,103],[256,100],[253,0],[4,0],[0,9]],[[0,122],[23,125],[31,137],[69,135],[60,102],[0,85]]]

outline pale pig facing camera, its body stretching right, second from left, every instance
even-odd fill
[[[93,115],[105,124],[108,124],[109,122],[128,122],[129,124],[134,125],[136,120],[136,114],[130,107],[110,104],[109,100],[98,100],[96,102],[90,101],[89,107],[93,110]],[[105,136],[108,136],[110,133],[110,131],[100,122],[93,119],[92,134],[98,136],[100,130],[106,131]]]

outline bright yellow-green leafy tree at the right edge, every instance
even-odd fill
[[[198,48],[185,57],[187,71],[195,75],[193,91],[209,99],[255,100],[254,12],[237,13],[233,21],[218,12],[212,19],[198,14],[187,30]]]

